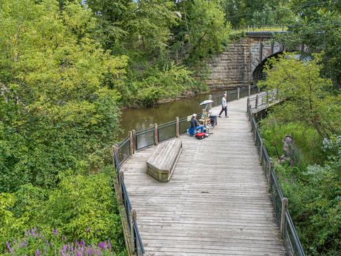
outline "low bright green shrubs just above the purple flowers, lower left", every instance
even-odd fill
[[[52,230],[58,230],[59,238],[65,237],[60,242],[77,238],[97,244],[110,240],[116,252],[122,251],[121,222],[110,180],[105,173],[71,174],[60,176],[58,188],[53,191],[25,185],[16,193],[2,193],[1,246],[13,238],[23,238],[23,230],[36,227],[46,239],[53,239]],[[41,242],[31,240],[31,250],[40,248]]]

